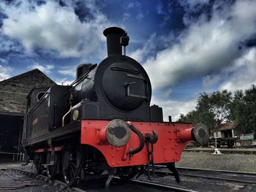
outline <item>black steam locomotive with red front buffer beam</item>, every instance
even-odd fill
[[[37,174],[62,173],[67,185],[86,174],[108,172],[129,180],[154,165],[166,165],[179,182],[175,162],[188,142],[208,141],[203,123],[164,122],[162,108],[150,106],[151,82],[137,61],[125,55],[129,36],[110,27],[108,57],[99,65],[82,64],[71,85],[34,88],[27,96],[23,150]]]

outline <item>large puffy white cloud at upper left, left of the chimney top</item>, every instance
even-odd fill
[[[99,53],[105,40],[102,31],[110,23],[92,3],[86,5],[95,17],[83,23],[73,7],[60,7],[57,1],[47,1],[40,6],[33,4],[34,9],[28,1],[19,7],[5,6],[8,18],[3,21],[2,32],[18,39],[30,52],[34,47],[41,47],[54,50],[61,57]]]

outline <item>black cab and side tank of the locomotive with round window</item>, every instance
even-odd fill
[[[23,139],[37,137],[61,127],[61,118],[67,112],[70,86],[53,85],[34,88],[27,96],[28,111],[24,120]],[[67,122],[69,123],[69,122]]]

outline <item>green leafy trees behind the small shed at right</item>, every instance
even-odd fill
[[[181,114],[179,122],[205,123],[213,130],[219,123],[233,120],[240,124],[245,133],[256,131],[256,86],[246,91],[214,91],[201,93],[195,110]]]

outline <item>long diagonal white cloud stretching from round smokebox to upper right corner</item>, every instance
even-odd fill
[[[178,43],[159,51],[143,65],[153,88],[176,85],[233,66],[242,53],[238,45],[256,33],[255,7],[256,1],[237,1],[222,4],[222,9],[214,6],[211,20],[201,15],[197,22],[189,23],[186,18],[188,28],[177,37]],[[140,50],[135,53],[137,58],[143,57]]]

